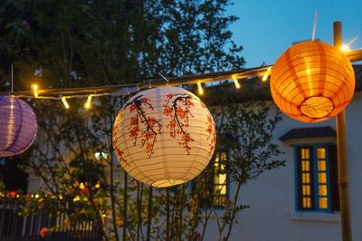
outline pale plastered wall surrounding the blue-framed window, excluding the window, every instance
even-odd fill
[[[346,110],[348,140],[348,175],[353,237],[362,240],[362,92],[357,92]],[[339,213],[297,213],[295,211],[294,149],[291,140],[279,138],[295,128],[330,126],[336,119],[314,124],[302,123],[283,116],[274,137],[285,152],[286,167],[263,173],[242,189],[241,204],[251,207],[240,212],[231,240],[252,241],[334,241],[341,240]],[[294,140],[330,142],[329,139]],[[299,142],[298,142],[299,141]],[[310,143],[310,142],[309,142]],[[233,192],[233,189],[232,189]],[[215,223],[206,232],[205,240],[216,240]]]

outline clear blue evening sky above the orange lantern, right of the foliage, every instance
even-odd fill
[[[228,14],[233,40],[243,45],[245,67],[273,64],[291,43],[311,39],[315,9],[316,38],[333,44],[333,22],[342,22],[343,43],[359,35],[351,48],[362,48],[362,0],[233,0]]]

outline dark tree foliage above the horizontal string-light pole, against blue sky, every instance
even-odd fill
[[[227,29],[229,1],[4,0],[0,86],[76,87],[243,65]],[[38,70],[34,76],[35,70]],[[41,72],[39,72],[41,70]],[[4,88],[4,87],[3,87]]]

